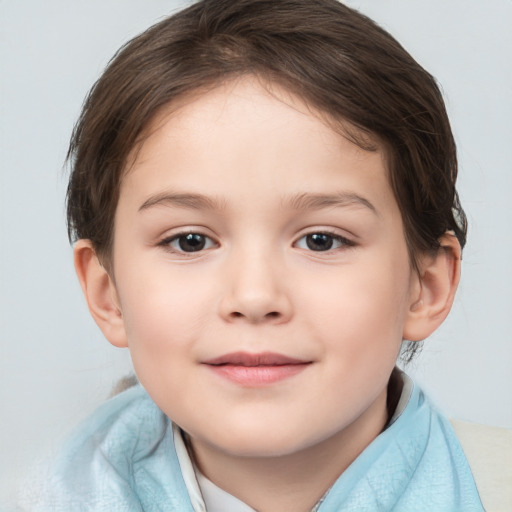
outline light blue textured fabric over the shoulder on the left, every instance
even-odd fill
[[[35,512],[194,512],[170,421],[140,387],[97,409],[56,460]]]

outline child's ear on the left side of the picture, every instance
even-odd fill
[[[128,340],[114,281],[98,259],[90,240],[76,242],[74,262],[92,317],[112,345],[127,347]]]

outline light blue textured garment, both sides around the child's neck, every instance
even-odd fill
[[[100,407],[56,461],[35,512],[193,512],[170,421],[139,386]],[[398,419],[341,475],[319,512],[482,512],[448,421],[414,387]]]

